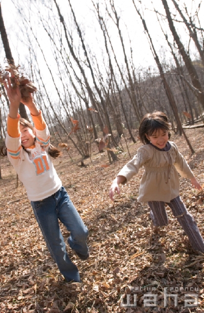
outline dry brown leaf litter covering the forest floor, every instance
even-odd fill
[[[194,155],[183,137],[173,134],[171,140],[203,185],[204,129],[186,134]],[[129,142],[132,156],[140,145]],[[74,148],[69,152],[73,162],[64,154],[54,165],[90,232],[88,260],[79,260],[67,246],[82,283],[64,281],[47,251],[24,187],[19,182],[16,188],[15,171],[6,157],[0,158],[0,312],[204,312],[204,256],[191,248],[168,207],[169,225],[154,229],[148,205],[137,202],[143,169],[112,202],[109,187],[129,160],[128,154],[122,152],[108,166],[107,153],[97,153],[95,148],[92,162],[86,159],[87,166],[82,167]],[[181,179],[180,195],[204,237],[204,192]],[[66,240],[69,233],[63,225],[61,229]],[[177,304],[170,293],[177,294]],[[185,302],[189,293],[194,294],[191,307]]]

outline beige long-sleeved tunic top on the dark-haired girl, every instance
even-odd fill
[[[171,147],[168,151],[157,150],[150,144],[143,145],[119,172],[118,176],[124,176],[128,181],[144,167],[138,201],[168,203],[179,196],[178,172],[185,178],[194,177],[177,145],[172,141],[169,143]]]

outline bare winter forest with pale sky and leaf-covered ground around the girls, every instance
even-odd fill
[[[54,163],[89,227],[92,255],[83,264],[72,256],[82,284],[63,282],[24,187],[0,156],[0,312],[204,312],[204,256],[191,250],[172,216],[154,233],[147,205],[136,201],[142,172],[114,203],[107,198],[112,179],[141,145],[143,115],[154,110],[167,114],[173,140],[204,183],[204,3],[89,0],[81,19],[73,0],[9,1],[16,33],[6,29],[0,2],[0,80],[15,68],[22,88],[27,81],[37,88],[35,102],[63,152]],[[143,45],[149,59],[138,63]],[[0,146],[8,109],[1,84]],[[31,119],[22,104],[20,115]],[[203,191],[181,181],[181,195],[204,235]],[[135,293],[134,306],[136,286],[150,286],[157,305],[145,307],[143,290]],[[198,303],[185,306],[187,291],[180,290],[177,306],[172,298],[165,305],[170,286],[192,287]],[[132,307],[122,306],[120,296],[127,293]]]

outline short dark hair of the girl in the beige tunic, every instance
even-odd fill
[[[151,136],[155,131],[162,130],[168,132],[168,138],[170,139],[170,123],[168,117],[165,113],[161,111],[154,111],[152,113],[147,113],[143,116],[143,119],[139,127],[139,137],[143,144],[149,143],[149,140],[146,137]]]

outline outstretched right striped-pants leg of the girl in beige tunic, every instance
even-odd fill
[[[187,211],[184,202],[178,196],[177,198],[171,200],[168,205],[172,209],[173,215],[182,225],[182,228],[188,236],[188,239],[193,249],[204,253],[204,240],[198,229],[196,221],[194,220],[193,216]]]

